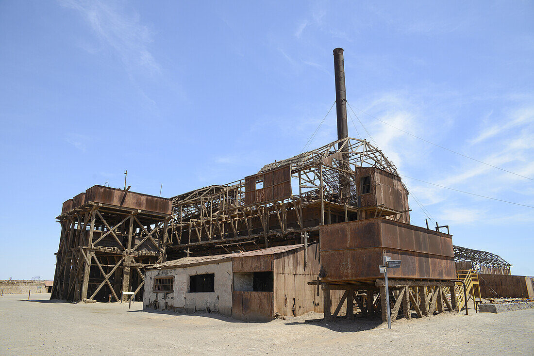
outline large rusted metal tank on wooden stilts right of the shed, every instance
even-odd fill
[[[320,226],[321,266],[326,282],[382,278],[382,256],[402,260],[390,278],[456,279],[451,235],[385,218]]]

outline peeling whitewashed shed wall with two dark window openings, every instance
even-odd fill
[[[203,293],[189,292],[189,276],[214,273],[215,291]],[[154,292],[154,278],[174,276],[172,292]],[[158,310],[211,311],[224,315],[232,313],[232,262],[212,263],[199,266],[172,268],[167,270],[147,270],[143,295],[143,308]]]

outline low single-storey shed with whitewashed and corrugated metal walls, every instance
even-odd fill
[[[318,274],[317,244],[184,257],[146,268],[143,307],[218,312],[245,321],[322,313],[323,291],[308,284]],[[339,301],[340,295],[332,298]]]

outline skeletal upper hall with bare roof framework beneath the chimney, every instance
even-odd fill
[[[364,215],[409,221],[407,204],[402,209],[384,202],[362,208],[358,201],[361,168],[398,177],[397,168],[380,149],[366,140],[344,138],[266,164],[240,180],[172,197],[168,251],[176,251],[173,257],[221,253],[227,250],[223,241],[254,242],[253,247],[259,243],[264,248],[272,246],[269,241],[301,242],[303,234],[311,242],[318,238],[319,225]],[[406,192],[405,187],[400,191]]]

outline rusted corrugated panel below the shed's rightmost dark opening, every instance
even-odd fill
[[[274,318],[273,292],[232,291],[232,318],[271,321]]]

